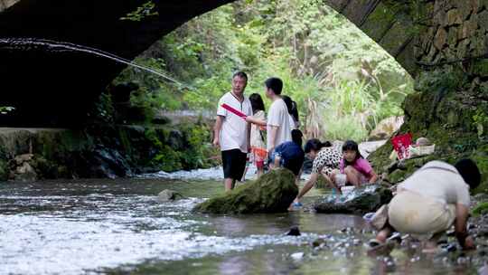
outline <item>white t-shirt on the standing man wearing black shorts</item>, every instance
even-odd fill
[[[233,109],[237,109],[247,116],[252,115],[252,107],[247,97],[240,102],[231,92],[227,92],[219,100],[217,115],[223,117],[221,128],[221,151],[240,149],[243,153],[248,153],[248,132],[246,120],[238,115],[224,109],[222,104],[227,104]]]

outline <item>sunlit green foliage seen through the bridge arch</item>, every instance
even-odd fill
[[[148,117],[159,109],[213,110],[230,90],[232,72],[243,70],[248,94],[261,92],[270,76],[285,82],[308,137],[362,140],[380,119],[401,115],[413,90],[398,62],[320,0],[223,5],[169,33],[136,62],[193,87],[127,69],[116,82],[139,85],[131,102]]]

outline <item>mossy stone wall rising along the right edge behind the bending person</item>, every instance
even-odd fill
[[[451,164],[471,157],[480,167],[488,191],[488,1],[436,0],[419,2],[415,28],[416,93],[404,102],[405,124],[399,133],[428,137],[436,144],[432,156]],[[421,12],[420,12],[421,11]],[[391,144],[371,154],[373,165],[385,172]],[[408,163],[414,161],[408,161]],[[418,168],[389,175],[393,183]]]

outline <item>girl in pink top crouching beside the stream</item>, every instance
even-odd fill
[[[331,176],[331,185],[339,194],[341,194],[342,186],[359,187],[378,180],[378,175],[374,172],[370,162],[361,156],[358,144],[352,140],[347,140],[343,144],[343,160],[339,167],[340,171],[333,171]]]

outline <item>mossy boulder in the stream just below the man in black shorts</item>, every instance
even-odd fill
[[[295,175],[277,169],[195,206],[202,213],[284,213],[298,194]]]

